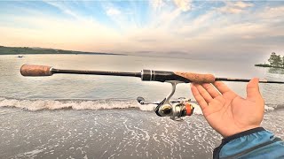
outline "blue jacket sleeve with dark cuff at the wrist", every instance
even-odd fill
[[[213,158],[284,158],[284,142],[257,127],[223,139]]]

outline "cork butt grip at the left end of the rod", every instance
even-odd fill
[[[20,74],[23,76],[51,76],[51,66],[24,64],[20,67]]]

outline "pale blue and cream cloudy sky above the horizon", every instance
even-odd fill
[[[284,1],[0,1],[0,45],[156,57],[284,55]]]

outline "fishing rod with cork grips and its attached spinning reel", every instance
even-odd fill
[[[248,82],[249,79],[217,78],[212,74],[200,74],[193,72],[164,72],[154,70],[142,70],[141,72],[103,72],[103,71],[83,71],[83,70],[62,70],[51,66],[24,64],[20,68],[23,76],[51,76],[56,73],[64,74],[89,74],[106,76],[126,76],[137,77],[143,81],[169,82],[172,85],[171,92],[162,102],[146,101],[143,97],[138,97],[140,104],[156,104],[154,111],[160,117],[170,117],[173,120],[181,120],[181,117],[193,114],[193,105],[186,98],[170,100],[176,91],[178,83],[214,83],[215,81],[237,81]],[[284,81],[260,80],[260,83],[284,84]]]

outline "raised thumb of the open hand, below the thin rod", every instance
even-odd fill
[[[258,87],[259,79],[254,78],[248,82],[247,85],[247,99],[251,101],[256,101],[256,98],[261,97]]]

